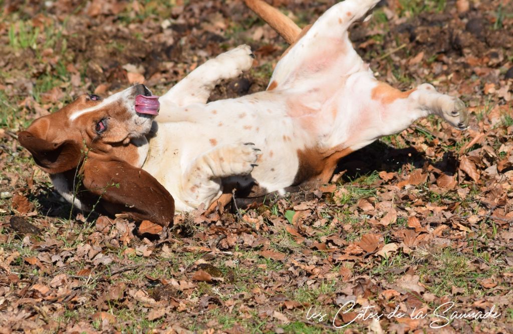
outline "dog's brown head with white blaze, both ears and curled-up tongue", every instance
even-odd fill
[[[18,140],[50,174],[80,169],[83,187],[100,196],[110,213],[129,213],[167,224],[174,212],[173,199],[153,176],[139,168],[145,158],[139,156],[139,147],[148,144],[145,135],[159,106],[158,97],[144,85],[106,99],[84,94],[35,120],[18,133]]]

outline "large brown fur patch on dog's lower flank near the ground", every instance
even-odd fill
[[[351,152],[349,148],[333,148],[325,153],[313,148],[298,150],[299,167],[292,185],[313,188],[328,183],[338,161]]]

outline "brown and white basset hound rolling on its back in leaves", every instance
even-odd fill
[[[461,100],[429,84],[402,92],[381,83],[354,51],[347,29],[378,2],[345,0],[300,33],[274,8],[246,0],[294,42],[266,91],[206,103],[216,84],[251,67],[249,47],[240,46],[158,99],[143,85],[105,100],[78,97],[19,141],[75,206],[90,209],[100,198],[112,214],[167,225],[174,206],[209,206],[228,187],[283,193],[327,183],[340,158],[419,117],[466,128]]]

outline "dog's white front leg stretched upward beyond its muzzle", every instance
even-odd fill
[[[160,97],[161,110],[166,112],[166,104],[186,106],[206,103],[215,85],[247,71],[253,64],[254,55],[247,45],[238,46],[228,52],[208,60],[174,85]]]

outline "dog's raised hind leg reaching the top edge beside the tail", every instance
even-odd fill
[[[288,88],[298,80],[311,80],[315,73],[344,76],[364,69],[347,29],[378,2],[345,0],[328,9],[282,56],[268,89]]]

